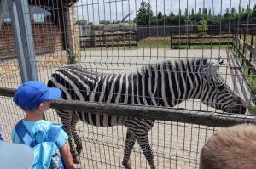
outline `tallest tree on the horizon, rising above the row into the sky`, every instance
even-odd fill
[[[153,16],[151,5],[143,1],[141,3],[141,7],[137,12],[138,12],[137,18],[135,19],[137,25],[149,25]]]

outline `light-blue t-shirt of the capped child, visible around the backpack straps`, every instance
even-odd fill
[[[25,121],[22,120],[24,123],[24,126],[26,127],[27,131],[30,132],[30,134],[33,136],[36,132],[42,131],[46,135],[46,132],[49,130],[50,122],[49,121]],[[55,144],[59,149],[67,142],[68,136],[67,133],[64,132],[64,130],[61,129],[61,132],[59,134],[59,137],[56,139]],[[18,134],[15,131],[15,127],[13,127],[12,131],[12,140],[15,144],[22,144]]]

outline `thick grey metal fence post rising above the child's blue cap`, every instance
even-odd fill
[[[17,48],[21,81],[38,80],[32,26],[27,0],[8,1],[9,14]]]

